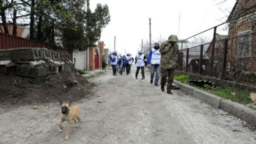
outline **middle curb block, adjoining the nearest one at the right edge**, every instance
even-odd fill
[[[202,101],[211,104],[213,107],[215,108],[219,108],[220,104],[221,104],[221,100],[223,98],[219,97],[219,96],[215,96],[211,93],[207,93],[203,90],[198,90],[198,89],[194,89],[192,96],[201,99]]]

